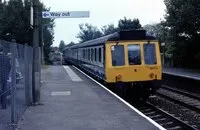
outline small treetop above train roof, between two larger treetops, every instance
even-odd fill
[[[118,28],[114,26],[114,24],[108,24],[101,28],[103,35],[108,35],[118,31]]]

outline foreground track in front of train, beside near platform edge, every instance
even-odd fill
[[[167,130],[196,130],[193,126],[155,107],[149,102],[144,106],[137,107],[137,109]]]

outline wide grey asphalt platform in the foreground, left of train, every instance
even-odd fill
[[[72,66],[42,70],[41,104],[29,107],[20,130],[164,129]]]

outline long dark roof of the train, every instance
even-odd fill
[[[89,46],[97,46],[105,44],[107,41],[120,41],[120,40],[156,40],[154,36],[147,35],[145,30],[124,30],[115,32],[97,39],[89,40],[83,43],[78,43],[67,48],[81,48]]]

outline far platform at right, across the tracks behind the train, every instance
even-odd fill
[[[200,70],[184,69],[184,68],[163,68],[164,74],[185,77],[188,79],[200,80]]]

